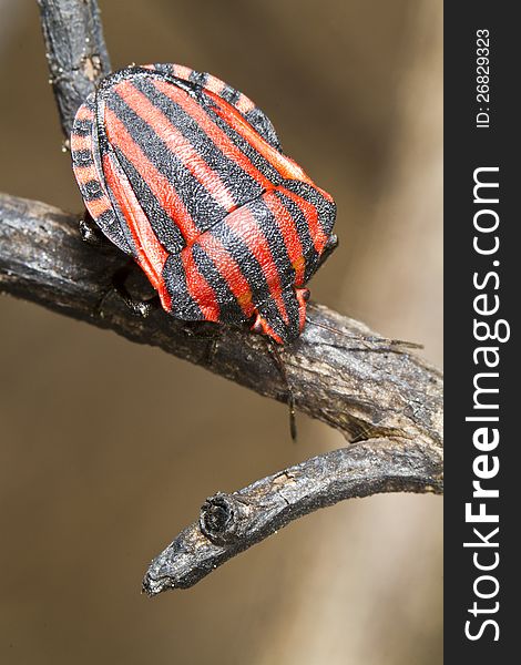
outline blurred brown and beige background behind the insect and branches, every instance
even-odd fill
[[[102,0],[114,68],[176,61],[251,95],[331,192],[314,298],[441,362],[441,0]],[[0,190],[79,211],[35,2],[0,0]],[[193,590],[147,561],[217,490],[334,431],[202,369],[0,298],[0,662],[441,663],[441,500],[320,511]]]

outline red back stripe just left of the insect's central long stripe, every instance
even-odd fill
[[[187,244],[192,244],[200,235],[192,216],[168,180],[161,174],[135,143],[118,115],[105,108],[105,131],[109,141],[118,146],[125,157],[135,166],[164,211],[178,226]]]

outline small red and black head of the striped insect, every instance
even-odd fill
[[[307,288],[287,287],[256,306],[252,330],[277,344],[297,339],[306,323]]]

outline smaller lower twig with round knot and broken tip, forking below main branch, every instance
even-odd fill
[[[143,590],[192,586],[293,520],[354,497],[442,491],[441,457],[413,441],[370,439],[302,462],[233,494],[206,500],[198,522],[150,565]]]

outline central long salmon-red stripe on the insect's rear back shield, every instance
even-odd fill
[[[192,143],[172,124],[167,115],[154,106],[150,99],[130,81],[119,83],[115,86],[115,91],[150,129],[155,132],[195,180],[208,191],[218,205],[228,212],[236,207],[234,197],[221,180],[218,173],[208,166]]]

